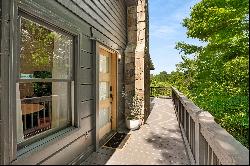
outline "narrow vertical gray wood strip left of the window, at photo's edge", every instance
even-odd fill
[[[1,1],[2,17],[1,17],[1,164],[7,165],[10,162],[12,149],[10,147],[10,95],[9,95],[9,57],[10,57],[10,3],[11,1]],[[7,130],[6,130],[7,129]]]

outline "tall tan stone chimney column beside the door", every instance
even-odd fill
[[[125,50],[125,92],[129,97],[137,94],[142,102],[142,120],[149,115],[149,26],[148,1],[127,1],[128,44]],[[128,99],[125,99],[125,112],[128,111]]]

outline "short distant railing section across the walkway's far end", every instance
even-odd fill
[[[171,97],[171,87],[150,87],[150,97]]]

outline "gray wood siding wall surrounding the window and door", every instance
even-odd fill
[[[119,51],[124,56],[123,52],[127,43],[125,1],[15,0],[15,2],[22,10],[30,12],[42,20],[47,20],[48,23],[56,27],[69,32],[73,30],[72,33],[76,34],[78,39],[77,45],[79,49],[78,53],[76,52],[77,56],[74,57],[76,89],[74,111],[77,112],[77,119],[75,119],[77,128],[65,129],[18,151],[17,159],[13,164],[69,164],[74,162],[74,159],[93,150],[96,132],[96,84],[94,82],[96,64],[94,62],[93,43],[98,41],[111,49]],[[123,59],[124,57],[118,65],[119,120],[122,119],[121,111],[124,110],[124,102],[121,98],[124,85]],[[3,63],[2,60],[1,63]],[[1,101],[0,98],[0,104]],[[2,134],[0,139],[2,143]],[[9,140],[6,137],[4,141],[8,142]]]

